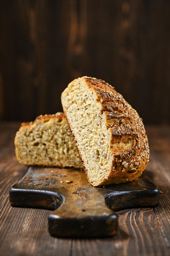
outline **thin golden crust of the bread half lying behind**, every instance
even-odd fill
[[[14,144],[15,144],[15,153],[16,153],[16,156],[18,155],[19,153],[19,147],[18,147],[18,136],[20,134],[22,134],[23,132],[26,132],[28,130],[28,128],[32,127],[33,125],[36,125],[37,123],[39,122],[47,122],[47,121],[52,121],[53,123],[59,123],[61,121],[65,121],[66,122],[66,118],[65,118],[65,115],[64,113],[62,112],[58,112],[56,114],[53,114],[53,115],[39,115],[38,117],[36,117],[36,119],[32,122],[23,122],[21,123],[20,125],[20,129],[19,131],[16,133],[16,136],[15,136],[15,139],[14,139]],[[23,164],[23,165],[26,165],[26,166],[30,166],[30,164],[26,164],[26,162],[22,161],[22,159],[20,157],[17,156],[17,160]],[[36,166],[37,164],[31,164],[31,166]],[[50,162],[46,162],[46,165],[41,165],[41,166],[48,166],[48,167],[53,167],[54,165],[51,164]],[[60,167],[60,168],[65,168],[64,165],[57,165],[57,167]],[[79,168],[79,166],[74,166],[74,168]]]

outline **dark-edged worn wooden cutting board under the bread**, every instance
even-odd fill
[[[9,190],[9,200],[12,206],[53,210],[48,218],[52,236],[106,237],[118,229],[113,211],[154,207],[159,190],[145,174],[133,182],[93,187],[83,170],[29,167]]]

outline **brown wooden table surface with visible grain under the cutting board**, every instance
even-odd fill
[[[0,131],[1,256],[166,256],[170,254],[169,126],[146,126],[150,180],[161,190],[156,208],[118,211],[116,236],[104,239],[62,239],[48,233],[49,210],[13,208],[8,190],[26,173],[16,161],[13,140],[19,123],[2,123]],[[99,229],[100,227],[96,227]]]

